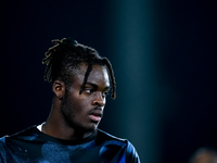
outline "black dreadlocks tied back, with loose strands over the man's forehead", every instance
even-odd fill
[[[92,71],[92,65],[106,65],[112,83],[112,99],[115,99],[116,83],[108,59],[100,57],[95,49],[78,43],[72,38],[63,38],[62,40],[54,39],[52,42],[55,43],[55,46],[49,48],[44,53],[46,58],[42,60],[42,64],[47,64],[44,80],[53,83],[60,77],[65,83],[66,87],[68,87],[72,83],[72,75],[76,75],[75,70],[79,67],[80,63],[85,62],[88,64],[88,68],[80,88],[79,93],[81,93],[88,80],[88,76]]]

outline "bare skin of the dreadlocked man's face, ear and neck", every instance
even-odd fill
[[[110,78],[106,67],[94,64],[79,95],[87,67],[87,64],[80,64],[79,75],[72,76],[73,83],[68,89],[61,78],[53,83],[53,105],[42,126],[44,134],[65,140],[78,140],[90,136],[98,128],[110,91]]]

